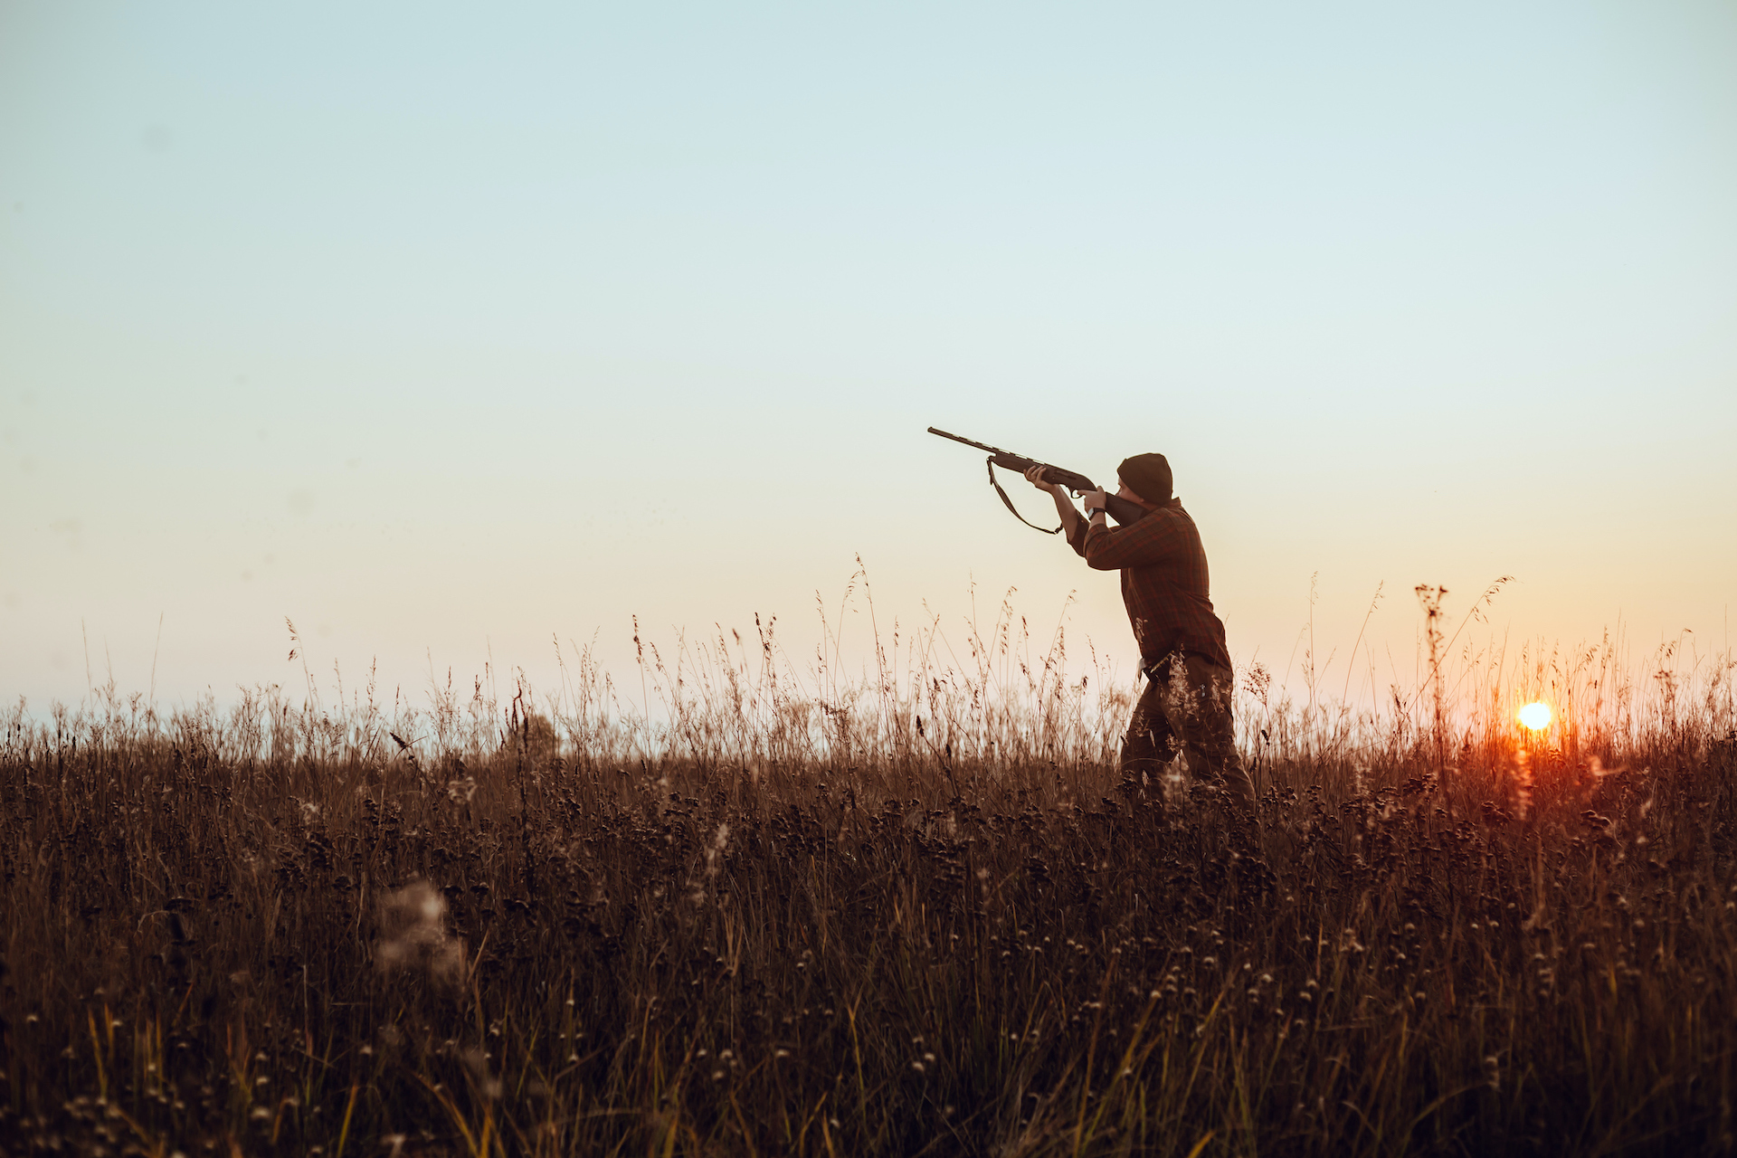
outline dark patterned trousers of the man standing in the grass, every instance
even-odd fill
[[[1145,674],[1146,691],[1122,740],[1122,774],[1155,780],[1185,755],[1190,776],[1223,788],[1237,809],[1252,813],[1254,781],[1237,752],[1230,714],[1232,670],[1192,651],[1172,651]]]

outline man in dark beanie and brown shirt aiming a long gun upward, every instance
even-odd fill
[[[1122,741],[1122,774],[1157,778],[1186,752],[1193,776],[1223,786],[1240,811],[1252,813],[1254,783],[1237,753],[1230,710],[1225,623],[1212,611],[1200,531],[1171,495],[1169,460],[1134,455],[1117,467],[1117,495],[1148,512],[1119,528],[1105,517],[1101,490],[1080,497],[1087,521],[1065,488],[1042,479],[1042,467],[1025,477],[1054,497],[1068,545],[1086,566],[1122,573],[1122,602],[1148,681]]]

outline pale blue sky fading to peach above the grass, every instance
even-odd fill
[[[3,0],[0,696],[299,686],[287,618],[412,696],[636,615],[801,656],[858,557],[1131,675],[928,425],[1166,453],[1280,675],[1503,575],[1494,637],[1721,651],[1732,61],[1678,0]]]

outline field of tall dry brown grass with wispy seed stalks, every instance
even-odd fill
[[[1133,689],[1007,608],[860,677],[766,625],[629,693],[578,649],[540,698],[19,705],[0,1142],[1728,1151],[1728,658],[1435,623],[1379,710],[1242,674],[1256,847],[1119,780]]]

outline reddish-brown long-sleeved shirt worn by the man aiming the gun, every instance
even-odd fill
[[[1150,668],[1172,651],[1193,651],[1230,668],[1225,623],[1212,613],[1200,531],[1172,498],[1131,526],[1091,526],[1068,536],[1086,564],[1122,573],[1122,602]]]

